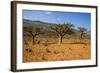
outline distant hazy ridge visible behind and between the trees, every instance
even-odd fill
[[[47,23],[47,22],[43,22],[43,21],[32,21],[32,20],[28,20],[28,19],[23,19],[23,27],[29,27],[29,26],[33,26],[34,28],[41,28],[42,31],[46,32],[46,34],[56,34],[53,30],[51,30],[48,26],[53,25],[54,23]],[[76,33],[74,36],[72,37],[79,37],[79,30],[77,29],[73,29],[74,32]],[[86,34],[86,36],[90,37],[90,34]]]

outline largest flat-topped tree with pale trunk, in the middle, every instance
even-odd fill
[[[59,37],[58,44],[62,43],[63,37],[66,34],[72,34],[73,33],[72,27],[73,27],[73,25],[70,24],[70,23],[68,23],[68,24],[55,24],[55,25],[50,26],[50,28],[58,34],[58,37]]]

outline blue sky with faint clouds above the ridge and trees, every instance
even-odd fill
[[[56,24],[72,23],[76,28],[85,27],[88,30],[91,27],[91,14],[82,12],[23,10],[23,19]]]

